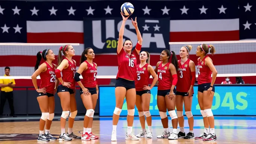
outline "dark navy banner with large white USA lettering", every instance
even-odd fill
[[[138,41],[136,30],[130,17],[125,23],[123,42],[133,42],[135,48]],[[159,49],[169,49],[170,18],[137,18],[142,34],[142,51],[159,53]],[[84,46],[93,48],[95,53],[116,53],[122,17],[116,18],[84,18]]]

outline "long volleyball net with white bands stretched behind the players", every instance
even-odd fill
[[[183,45],[192,45],[190,51],[190,59],[197,65],[197,56],[195,51],[197,46],[201,43],[207,45],[214,45],[216,48],[215,55],[208,54],[212,60],[215,68],[218,71],[217,77],[247,77],[245,81],[248,83],[256,83],[252,80],[256,76],[256,40],[239,40],[239,41],[213,41],[213,42],[169,42],[170,50],[174,51],[178,59],[180,59],[179,51]],[[37,52],[44,49],[52,49],[56,58],[53,63],[57,63],[57,56],[59,47],[70,44],[74,47],[76,55],[73,57],[76,60],[76,65],[79,68],[80,57],[84,50],[83,45],[79,43],[0,43],[0,79],[31,79],[34,73],[34,66],[37,61]],[[159,50],[159,54],[162,50]],[[159,54],[151,54],[151,65],[155,68],[156,62],[159,61]],[[96,55],[104,55],[97,54]],[[105,54],[107,55],[107,54]],[[98,64],[97,79],[115,79],[118,66],[104,66],[101,65],[101,57],[95,58]],[[108,60],[110,63],[114,60]],[[43,59],[41,60],[43,63]],[[5,74],[5,67],[10,68],[11,77],[3,77]],[[196,71],[197,73],[197,71]],[[40,77],[37,77],[40,79]],[[82,76],[81,76],[82,78]],[[152,78],[152,77],[151,77]],[[224,81],[225,79],[222,78]],[[254,82],[253,82],[254,81]],[[31,82],[32,83],[32,82]],[[254,83],[254,84],[255,84]]]

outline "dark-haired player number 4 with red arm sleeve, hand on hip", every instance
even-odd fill
[[[171,59],[171,63],[169,62]],[[174,51],[165,49],[161,52],[160,62],[155,67],[155,72],[158,75],[157,88],[157,107],[163,124],[163,135],[158,135],[157,138],[178,139],[177,127],[178,119],[175,112],[176,90],[177,84],[177,69],[178,61]],[[168,117],[166,108],[172,119],[173,132],[170,134],[168,129]]]

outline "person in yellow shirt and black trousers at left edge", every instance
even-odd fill
[[[11,76],[10,68],[7,66],[5,67],[5,77]],[[3,115],[3,107],[5,106],[5,101],[8,99],[9,107],[11,110],[11,116],[17,117],[14,114],[14,105],[13,105],[13,87],[15,87],[15,80],[14,79],[2,79],[0,80],[0,87],[1,87],[1,99],[0,99],[0,117]]]

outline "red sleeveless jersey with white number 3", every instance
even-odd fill
[[[178,60],[178,82],[176,85],[177,92],[188,92],[191,86],[192,75],[189,68],[190,59],[181,65],[181,60]]]

